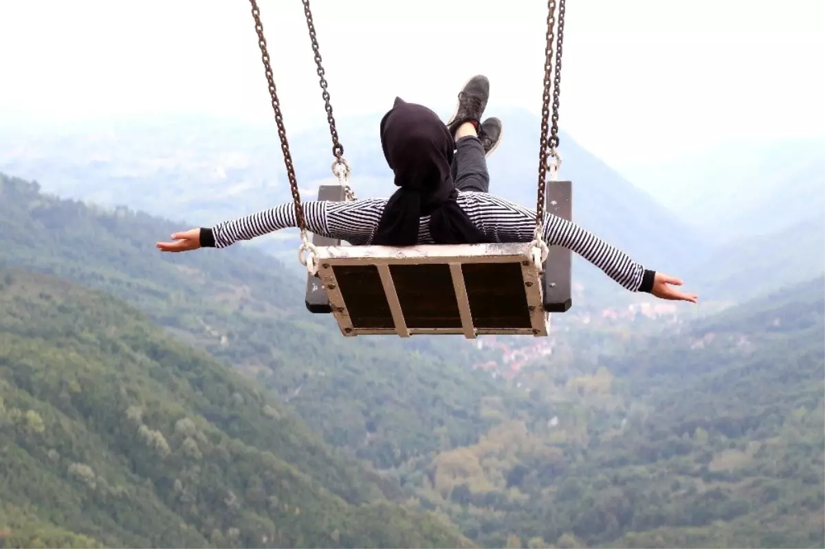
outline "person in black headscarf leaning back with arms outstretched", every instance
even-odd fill
[[[397,97],[381,120],[381,145],[399,189],[389,199],[304,202],[307,230],[340,238],[353,246],[532,242],[535,209],[489,193],[487,157],[502,138],[502,122],[482,121],[490,82],[476,76],[459,94],[447,124],[425,106]],[[158,242],[161,251],[225,248],[282,228],[297,227],[295,204],[224,221],[212,228],[192,228]],[[544,213],[542,237],[596,265],[631,292],[696,303],[682,293],[676,277],[648,270],[624,252],[566,219]]]

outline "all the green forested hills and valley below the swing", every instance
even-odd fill
[[[2,177],[0,226],[4,549],[825,546],[825,279],[505,381],[143,213]]]

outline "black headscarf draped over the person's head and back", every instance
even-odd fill
[[[373,244],[413,246],[423,215],[430,216],[436,244],[488,242],[455,202],[458,190],[450,176],[455,141],[436,113],[396,97],[381,120],[381,146],[401,188],[384,208]]]

